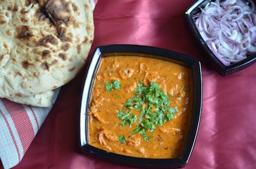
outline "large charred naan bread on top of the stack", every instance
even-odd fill
[[[82,0],[0,1],[0,98],[30,96],[72,80],[94,37]]]

